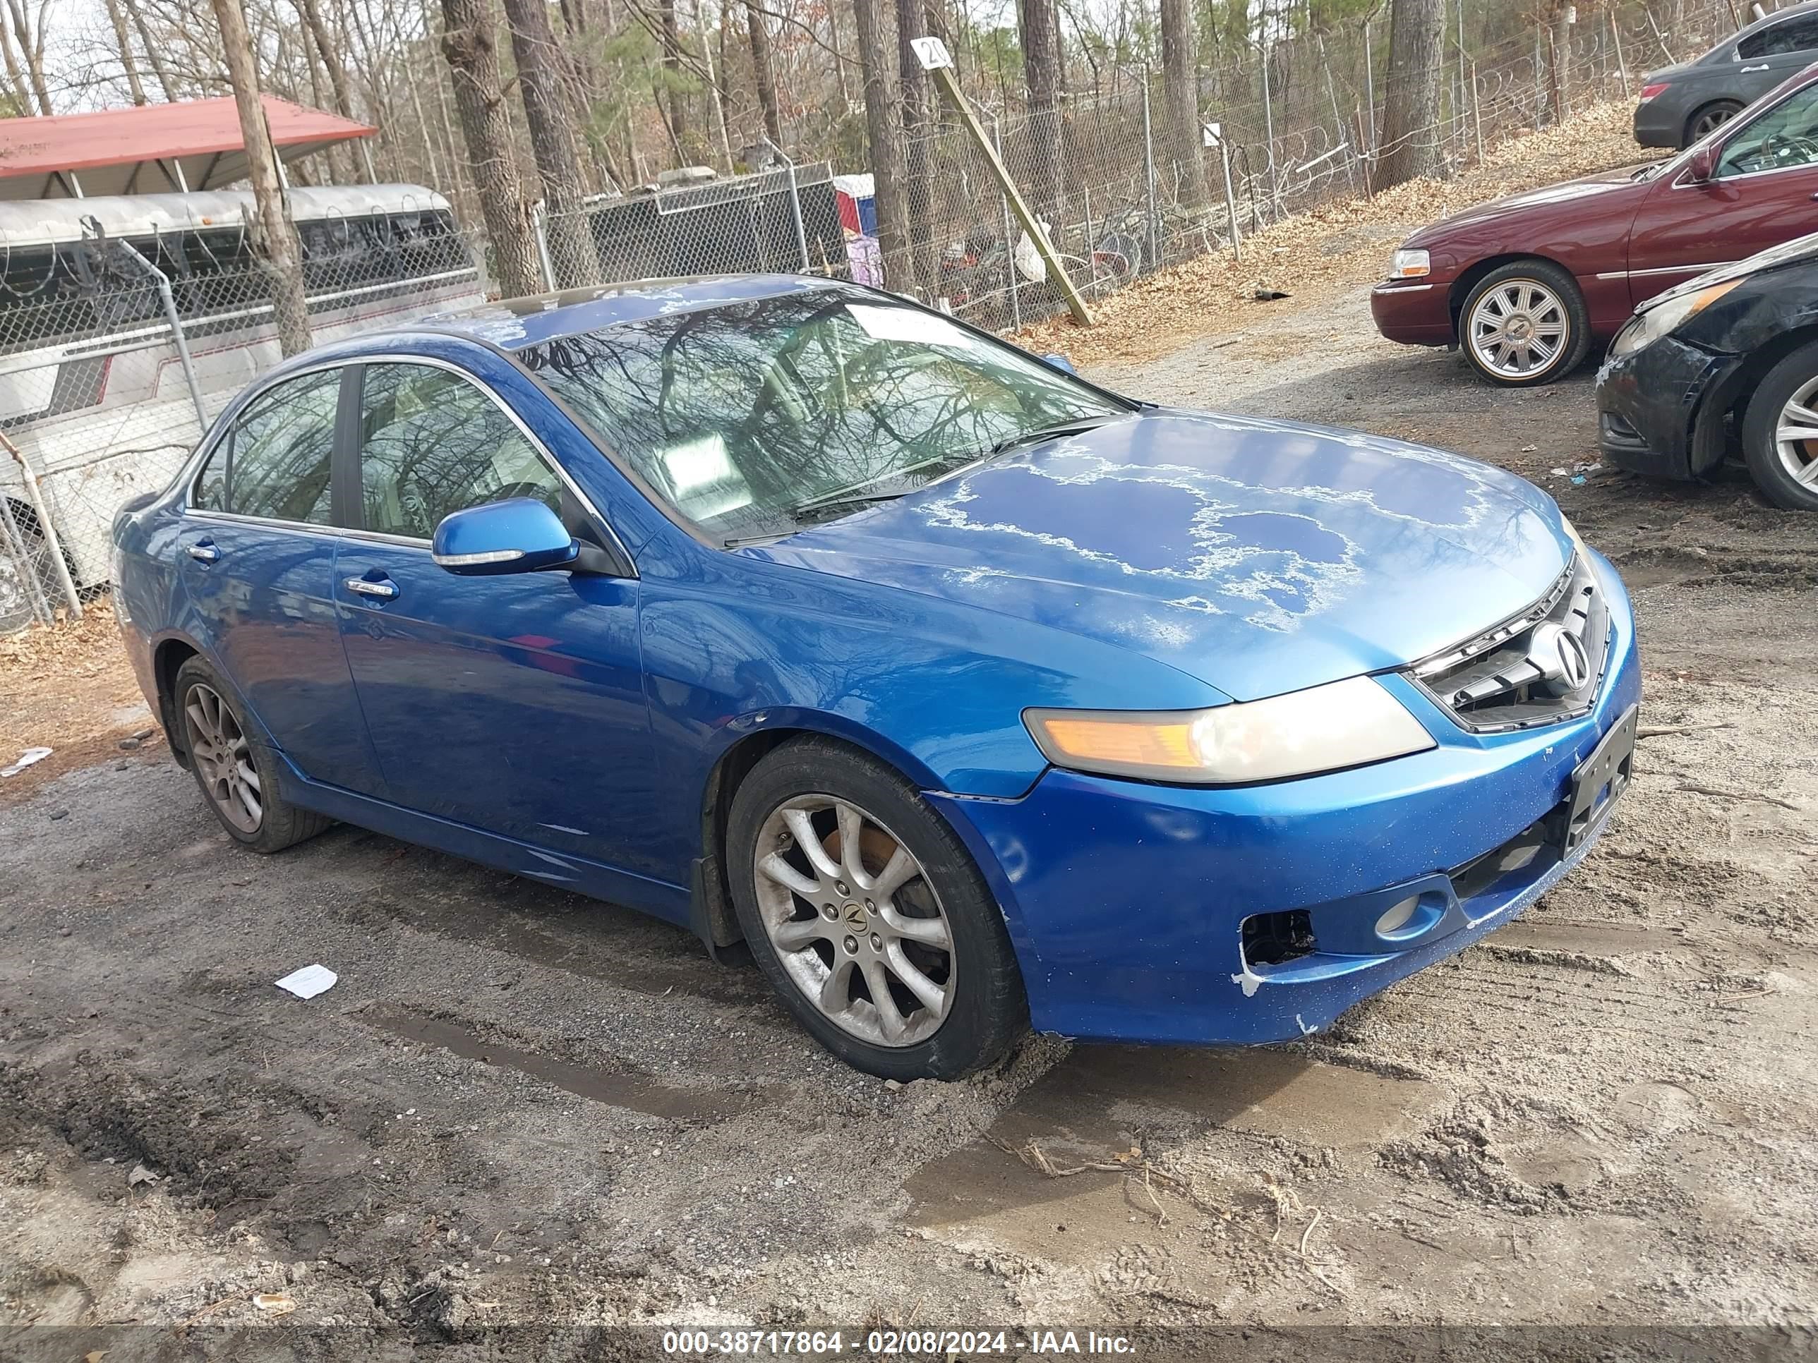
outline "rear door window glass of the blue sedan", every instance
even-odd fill
[[[209,456],[196,480],[196,505],[329,525],[338,403],[338,369],[304,374],[262,394]]]

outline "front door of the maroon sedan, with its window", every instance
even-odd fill
[[[1667,171],[1629,238],[1629,293],[1643,303],[1693,274],[1818,231],[1818,82],[1738,118],[1711,178]]]

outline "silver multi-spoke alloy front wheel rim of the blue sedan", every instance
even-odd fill
[[[753,852],[758,910],[804,998],[882,1047],[925,1041],[953,1005],[953,927],[922,863],[851,800],[785,800]]]

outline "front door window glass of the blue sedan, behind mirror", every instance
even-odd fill
[[[487,393],[431,365],[365,367],[365,529],[429,540],[449,512],[509,496],[534,496],[562,511],[562,482]]]

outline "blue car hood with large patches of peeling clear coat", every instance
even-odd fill
[[[1254,700],[1514,614],[1571,540],[1549,496],[1473,460],[1145,411],[745,552],[1069,631]]]

